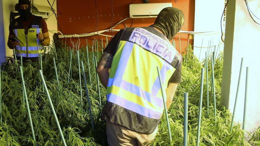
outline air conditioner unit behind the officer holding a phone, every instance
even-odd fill
[[[51,13],[53,12],[51,11],[50,6],[43,6],[38,4],[33,4],[32,6],[32,14],[41,16],[45,20],[49,19]]]

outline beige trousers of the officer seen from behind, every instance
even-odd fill
[[[115,124],[106,123],[109,146],[146,146],[155,138],[157,131],[158,127],[151,134],[142,134]]]

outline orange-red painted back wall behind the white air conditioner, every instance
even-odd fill
[[[176,0],[177,1],[177,0]],[[181,9],[184,13],[184,24],[181,30],[194,31],[194,12],[195,12],[195,0],[179,0],[175,3],[174,0],[150,0],[149,3],[163,3],[172,2],[173,7]],[[113,0],[113,22],[112,25],[129,17],[129,4],[142,3],[142,0]],[[97,29],[103,30],[111,27],[112,9],[111,0],[96,0],[98,23],[95,0],[62,0],[58,1],[58,10],[61,12],[61,16],[58,16],[58,23],[61,27],[64,35],[70,34],[83,34],[96,31]],[[58,13],[59,14],[59,13]],[[143,27],[153,24],[155,18],[148,19],[128,19],[124,22],[127,27]],[[125,27],[123,23],[119,24],[113,29],[123,29]],[[115,35],[116,32],[113,32]],[[111,35],[111,32],[104,33]],[[188,34],[178,33],[175,37],[179,38],[185,43],[188,42]],[[98,39],[98,36],[95,36]],[[105,37],[103,43],[105,46]],[[94,37],[87,37],[88,43],[92,45]],[[72,38],[71,41],[77,42],[78,38]],[[64,41],[65,42],[65,41]],[[70,39],[67,38],[67,42],[71,45]],[[187,47],[187,44],[181,42],[182,51]],[[176,48],[179,50],[179,42],[175,38]],[[190,40],[190,44],[193,44],[193,40]],[[80,38],[80,46],[86,45],[86,38]],[[71,45],[72,46],[72,45]]]

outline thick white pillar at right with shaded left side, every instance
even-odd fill
[[[260,1],[250,0],[249,6],[260,16]],[[260,21],[258,20],[260,23]],[[235,112],[235,122],[243,122],[246,67],[249,70],[246,130],[254,131],[260,126],[260,25],[251,19],[244,0],[229,1],[227,6],[224,63],[222,73],[221,104],[232,113],[238,85],[241,58],[243,71]]]

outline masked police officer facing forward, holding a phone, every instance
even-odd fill
[[[22,56],[24,61],[36,61],[38,53],[44,53],[43,46],[50,44],[47,24],[42,17],[31,13],[29,0],[19,0],[18,5],[20,17],[9,25],[7,45],[10,49],[16,50],[17,59]]]

